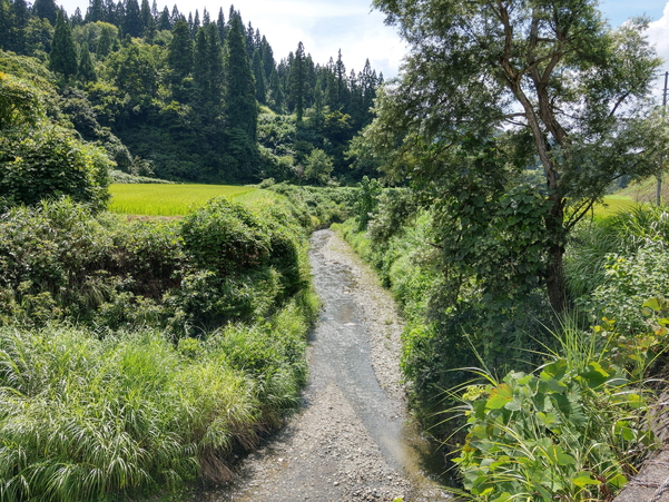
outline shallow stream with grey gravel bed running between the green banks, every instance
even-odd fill
[[[392,298],[331,230],[312,237],[311,262],[324,309],[309,344],[304,410],[244,461],[230,486],[199,500],[447,500],[422,473],[425,443],[405,426]]]

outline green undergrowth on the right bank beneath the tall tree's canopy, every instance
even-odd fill
[[[412,406],[445,441],[462,494],[602,500],[622,488],[655,441],[649,377],[665,368],[669,333],[667,208],[574,229],[565,262],[574,307],[558,321],[541,291],[491,312],[473,272],[454,295],[435,246],[437,209],[420,208],[411,189],[363,183],[356,209],[338,228],[402,307]]]

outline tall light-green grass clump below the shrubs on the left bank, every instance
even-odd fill
[[[268,323],[207,339],[155,329],[0,328],[0,501],[81,501],[227,480],[298,404],[306,331],[301,295]]]

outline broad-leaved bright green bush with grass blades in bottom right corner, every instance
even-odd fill
[[[611,361],[620,348],[598,331],[565,327],[562,355],[532,373],[469,384],[468,436],[455,459],[464,486],[481,500],[610,499],[649,446],[642,385]],[[634,355],[631,353],[628,356]]]

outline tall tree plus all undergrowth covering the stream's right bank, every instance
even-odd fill
[[[669,322],[666,210],[588,226],[611,186],[665,166],[648,20],[611,29],[590,0],[374,4],[411,51],[352,149],[411,188],[364,181],[344,232],[404,306],[414,404],[476,500],[608,500],[650,443]]]

